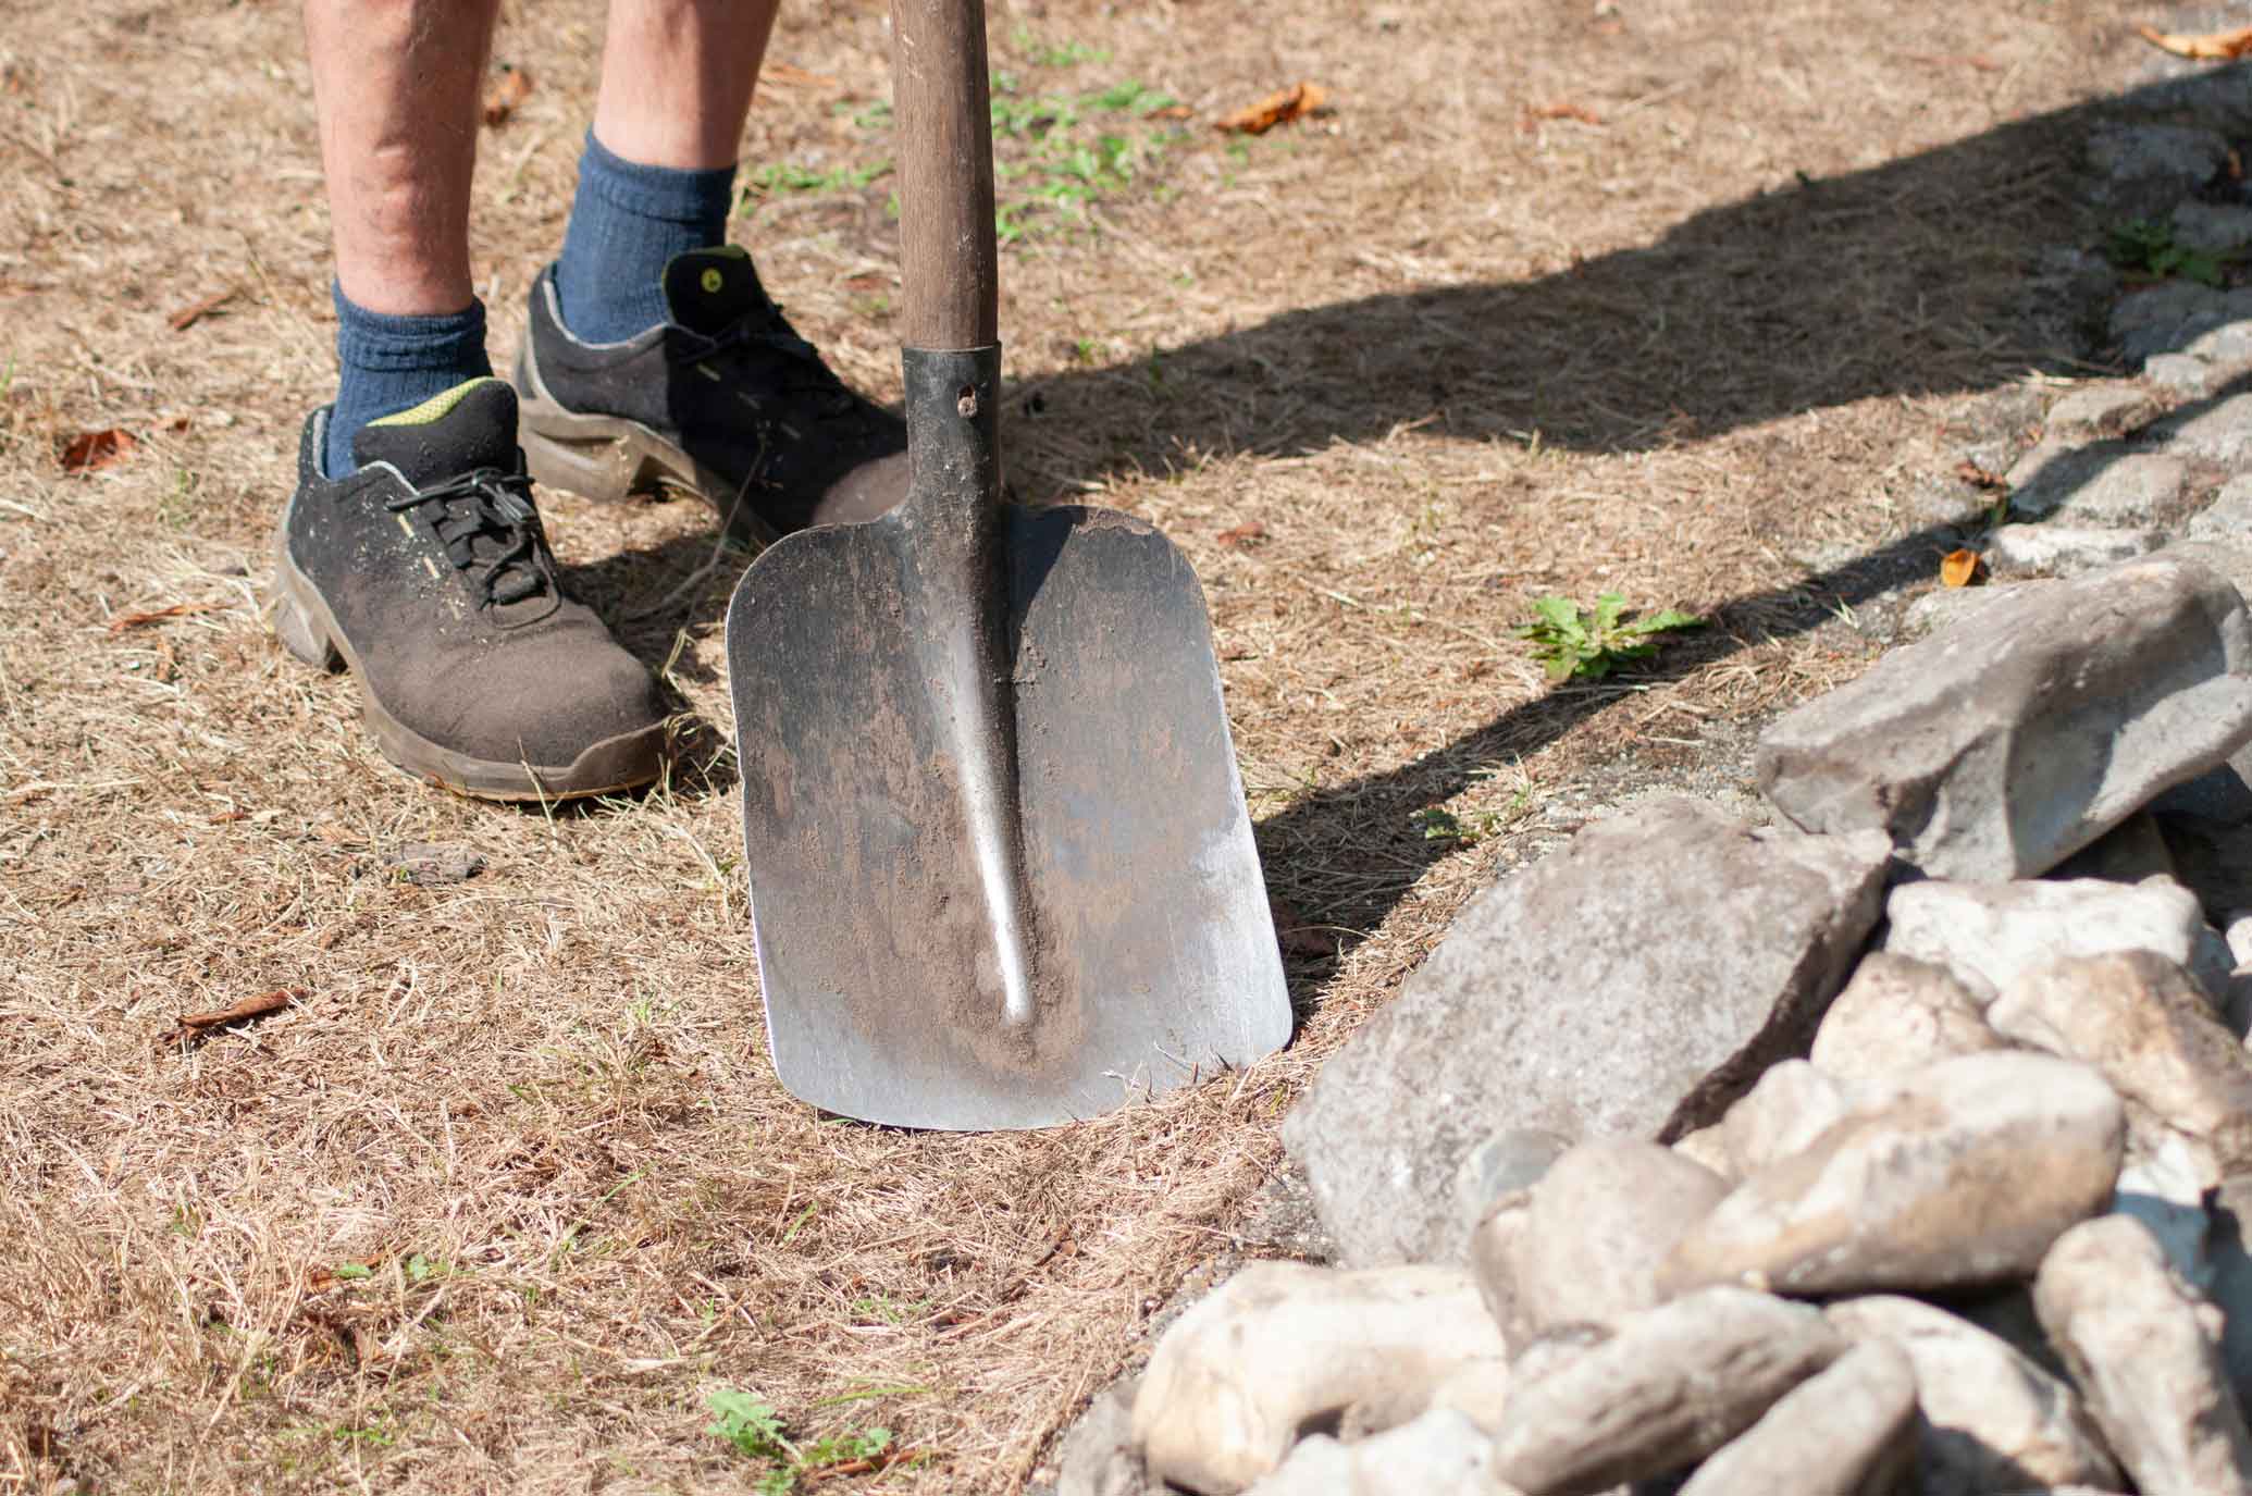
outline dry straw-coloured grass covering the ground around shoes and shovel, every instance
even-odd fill
[[[998,5],[1002,63],[1200,115],[1099,237],[1004,257],[1029,498],[1158,520],[1212,595],[1295,960],[1293,1052],[1040,1136],[824,1122],[763,1059],[718,611],[691,505],[547,500],[700,719],[678,780],[581,813],[430,795],[257,586],[331,379],[291,7],[14,0],[0,32],[0,1489],[741,1489],[712,1388],[1004,1491],[1227,1241],[1275,1122],[1590,773],[1858,671],[1822,624],[1928,566],[1898,509],[1950,401],[2058,365],[2025,266],[2072,237],[2128,7],[2031,0]],[[486,137],[495,354],[558,239],[599,9],[518,7]],[[1110,52],[1076,70],[1029,43]],[[865,160],[881,11],[797,5],[748,160]],[[1977,61],[1964,61],[1977,59]],[[1601,124],[1536,117],[1576,104]],[[1802,185],[1804,180],[1811,185]],[[892,225],[743,225],[799,327],[896,390]],[[187,331],[167,313],[234,288]],[[140,448],[65,478],[56,444]],[[1248,536],[1245,527],[1257,527]],[[1236,532],[1239,543],[1223,541]],[[1248,536],[1248,538],[1245,538]],[[709,568],[709,570],[703,570]],[[1547,590],[1718,611],[1639,692],[1547,692]],[[113,631],[180,602],[207,611]],[[676,656],[678,651],[678,656]],[[1639,771],[1637,771],[1639,773]],[[1410,816],[1491,811],[1462,849]],[[453,888],[387,874],[464,843]],[[189,1009],[293,1009],[180,1050]],[[340,1275],[338,1268],[345,1268]],[[365,1268],[358,1275],[356,1268]]]

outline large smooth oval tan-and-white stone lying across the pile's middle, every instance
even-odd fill
[[[2126,1120],[2090,1066],[1966,1054],[1871,1086],[1745,1178],[1657,1271],[1660,1293],[1968,1289],[2029,1275],[2119,1178]]]

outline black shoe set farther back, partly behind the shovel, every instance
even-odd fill
[[[676,255],[664,304],[671,322],[637,338],[581,342],[563,327],[554,266],[540,273],[516,358],[536,480],[608,500],[691,489],[761,545],[905,498],[908,424],[790,331],[750,255]]]

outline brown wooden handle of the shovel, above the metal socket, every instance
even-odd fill
[[[892,0],[905,342],[998,342],[984,0]]]

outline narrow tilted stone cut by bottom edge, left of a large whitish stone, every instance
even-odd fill
[[[1705,1460],[1680,1496],[1871,1496],[1916,1451],[1916,1368],[1892,1341],[1856,1345]]]

